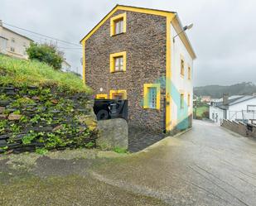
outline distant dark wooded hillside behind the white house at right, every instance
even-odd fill
[[[256,85],[251,82],[243,82],[229,86],[207,85],[202,87],[195,87],[194,94],[196,96],[210,96],[211,98],[221,98],[223,93],[229,95],[256,93]]]

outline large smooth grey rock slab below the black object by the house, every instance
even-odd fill
[[[128,149],[128,122],[122,118],[102,120],[98,122],[98,146],[103,149]]]

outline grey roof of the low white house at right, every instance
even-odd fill
[[[221,109],[228,109],[229,106],[232,106],[237,103],[242,103],[244,101],[248,101],[249,99],[256,98],[256,96],[252,95],[234,95],[230,96],[228,99],[228,104],[223,104],[223,98],[220,98],[217,102],[215,102],[215,106]]]

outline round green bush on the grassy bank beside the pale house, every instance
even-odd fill
[[[63,54],[56,49],[56,46],[31,43],[30,47],[27,48],[27,55],[30,60],[46,62],[54,69],[61,69]]]

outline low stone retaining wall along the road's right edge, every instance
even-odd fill
[[[239,133],[244,137],[256,138],[256,125],[254,124],[235,122],[224,119],[221,123],[221,126],[231,130],[232,132]]]

